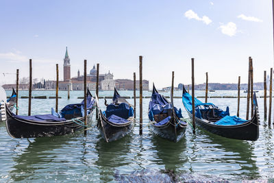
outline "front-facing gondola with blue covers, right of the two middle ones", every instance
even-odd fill
[[[153,84],[149,101],[149,121],[153,132],[169,141],[178,142],[186,132],[186,121],[182,120],[182,110],[172,104],[156,90]]]

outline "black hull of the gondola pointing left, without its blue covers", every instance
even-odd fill
[[[8,134],[14,138],[36,138],[42,136],[60,136],[71,134],[75,130],[82,129],[84,125],[79,125],[79,121],[84,123],[84,117],[77,118],[76,121],[61,121],[61,122],[47,122],[47,121],[27,121],[12,117],[12,112],[7,111],[7,120],[5,125]],[[87,122],[92,119],[93,111],[88,115]]]

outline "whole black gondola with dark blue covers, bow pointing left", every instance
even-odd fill
[[[88,90],[87,122],[92,119],[95,99]],[[82,103],[69,104],[60,112],[51,108],[51,114],[19,116],[6,107],[7,120],[5,126],[8,134],[14,138],[32,138],[42,136],[60,136],[71,134],[84,127],[84,100]]]

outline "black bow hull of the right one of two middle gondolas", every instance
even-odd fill
[[[168,124],[164,126],[157,126],[152,124],[151,128],[155,135],[177,143],[183,138],[186,132],[186,125],[178,124],[175,128],[175,126],[172,124],[174,124],[172,121],[169,121]]]

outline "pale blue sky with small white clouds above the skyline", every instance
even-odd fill
[[[254,81],[273,66],[272,4],[268,0],[181,1],[1,1],[0,84],[15,81],[15,73],[55,80],[55,64],[62,64],[66,46],[71,75],[100,63],[114,79],[138,76],[158,88],[191,82],[247,83],[248,57],[253,58]]]

